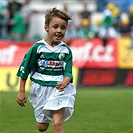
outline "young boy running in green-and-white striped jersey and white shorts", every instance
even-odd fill
[[[63,122],[74,110],[76,89],[72,83],[72,52],[61,41],[71,17],[56,8],[45,15],[46,39],[36,42],[25,55],[18,70],[20,88],[17,103],[26,104],[25,84],[32,80],[30,102],[39,131],[46,131],[52,120],[54,133],[64,133]]]

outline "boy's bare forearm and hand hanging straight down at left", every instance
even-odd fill
[[[17,96],[17,103],[24,107],[26,104],[26,92],[25,92],[25,85],[26,85],[26,80],[20,78],[20,88]]]

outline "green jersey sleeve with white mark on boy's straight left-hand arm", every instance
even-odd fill
[[[25,54],[23,61],[18,69],[17,76],[22,79],[27,79],[37,62],[37,47],[32,46]]]

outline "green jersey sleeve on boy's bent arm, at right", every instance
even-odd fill
[[[72,75],[72,52],[69,49],[69,53],[66,55],[65,58],[65,70],[64,70],[64,77],[68,76],[73,80],[73,75]]]

